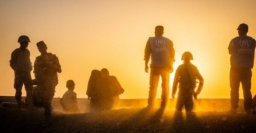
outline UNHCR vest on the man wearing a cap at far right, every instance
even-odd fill
[[[230,56],[230,65],[238,68],[253,68],[255,40],[247,35],[234,38],[230,42],[232,52]]]

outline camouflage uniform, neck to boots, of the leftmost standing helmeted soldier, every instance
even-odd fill
[[[26,97],[32,99],[32,84],[31,84],[31,74],[32,63],[30,61],[30,52],[28,49],[15,49],[12,52],[10,66],[15,72],[14,88],[15,99],[17,103],[21,101],[22,87],[23,84],[26,90]]]

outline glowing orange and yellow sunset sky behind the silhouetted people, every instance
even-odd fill
[[[238,36],[240,23],[246,23],[247,35],[256,38],[256,0],[0,0],[0,95],[15,95],[9,60],[20,46],[19,36],[27,35],[33,64],[40,55],[36,43],[41,40],[59,58],[62,73],[54,97],[62,97],[66,81],[72,79],[77,97],[87,98],[90,72],[107,68],[125,89],[120,98],[148,98],[144,49],[148,37],[154,36],[154,27],[162,25],[163,36],[175,48],[170,90],[181,55],[189,51],[192,64],[204,78],[198,98],[230,98],[227,47]],[[256,68],[253,95],[255,74]]]

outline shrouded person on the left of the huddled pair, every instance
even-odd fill
[[[92,70],[88,85],[87,85],[87,91],[86,95],[88,96],[88,100],[90,100],[90,108],[91,110],[97,110],[99,106],[99,101],[95,97],[95,91],[96,91],[96,85],[101,77],[100,71],[99,70]]]

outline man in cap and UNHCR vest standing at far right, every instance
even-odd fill
[[[252,94],[251,78],[254,63],[255,39],[247,36],[248,26],[242,23],[238,27],[239,36],[233,38],[228,46],[230,56],[230,113],[236,113],[239,102],[239,85],[244,94],[244,110],[251,114]]]

